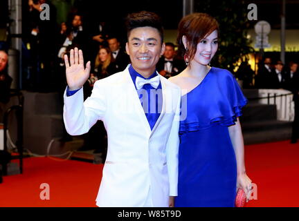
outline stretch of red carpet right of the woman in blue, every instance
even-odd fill
[[[246,146],[246,171],[257,184],[257,200],[247,206],[299,206],[299,144]]]

